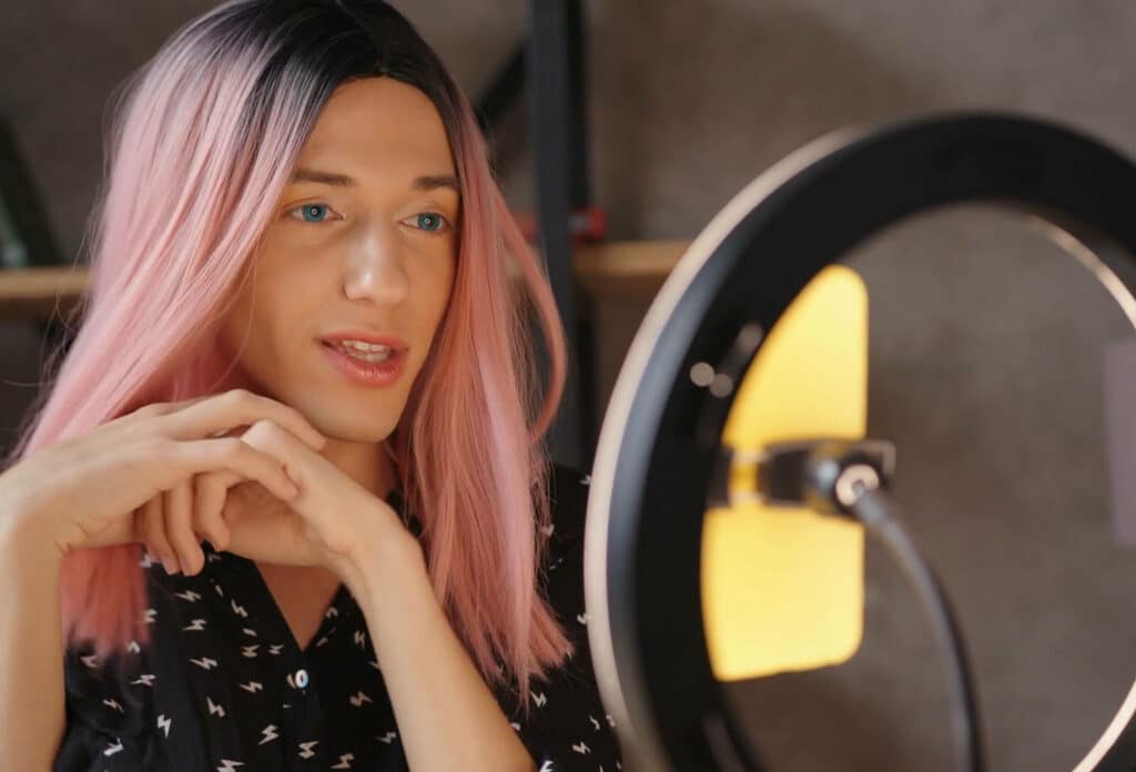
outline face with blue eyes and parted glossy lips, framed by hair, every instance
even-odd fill
[[[423,92],[384,77],[333,93],[223,322],[251,389],[333,439],[394,430],[453,284],[456,177]]]

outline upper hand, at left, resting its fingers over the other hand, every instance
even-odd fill
[[[135,530],[134,512],[156,497],[184,496],[198,475],[225,472],[294,500],[298,481],[289,478],[277,455],[219,436],[258,423],[306,447],[326,443],[296,410],[244,389],[157,403],[26,456],[0,475],[0,502],[19,528],[50,540],[65,555],[80,547],[144,540]]]

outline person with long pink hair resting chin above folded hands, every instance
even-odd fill
[[[437,56],[232,0],[125,86],[0,475],[0,766],[620,769],[562,330]]]

